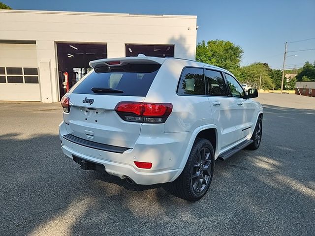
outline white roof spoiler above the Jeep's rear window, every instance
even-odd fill
[[[89,64],[92,68],[95,69],[101,66],[122,66],[129,63],[162,64],[165,60],[165,58],[146,57],[143,54],[139,54],[138,57],[92,60]]]

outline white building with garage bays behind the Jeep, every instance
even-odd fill
[[[58,102],[89,61],[195,59],[196,16],[0,10],[0,100]]]

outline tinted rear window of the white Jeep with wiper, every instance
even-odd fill
[[[83,81],[80,81],[73,93],[146,96],[160,66],[157,64],[127,64],[119,67],[98,67]],[[117,89],[122,92],[95,93],[92,88]]]

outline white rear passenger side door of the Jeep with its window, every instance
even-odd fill
[[[228,96],[228,89],[221,71],[205,69],[207,94],[212,110],[213,122],[221,134],[221,149],[232,145],[237,140],[237,119],[233,98]]]

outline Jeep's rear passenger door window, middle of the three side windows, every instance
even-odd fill
[[[206,86],[211,96],[227,96],[225,82],[221,72],[214,70],[205,70]]]

